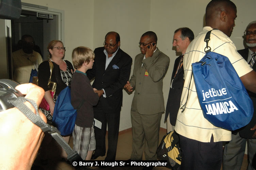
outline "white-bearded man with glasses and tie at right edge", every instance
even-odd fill
[[[239,54],[256,71],[256,21],[248,24],[244,32],[244,40],[248,48],[238,50]],[[254,61],[252,61],[254,60]],[[249,124],[236,130],[232,134],[232,139],[225,145],[223,154],[223,170],[241,169],[245,146],[247,141],[249,163],[247,170],[253,170],[253,156],[256,154],[256,94],[247,90],[253,101],[254,113]]]

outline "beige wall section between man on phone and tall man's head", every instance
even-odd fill
[[[195,36],[201,32],[204,24],[205,7],[208,2],[206,0],[152,0],[151,2],[150,29],[157,33],[160,50],[170,57],[170,66],[163,80],[165,106],[170,89],[173,65],[177,58],[172,47],[174,31],[180,27],[188,27],[194,32]],[[166,126],[163,121],[162,116],[161,127]]]

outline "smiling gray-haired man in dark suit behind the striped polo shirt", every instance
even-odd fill
[[[181,53],[181,55],[176,58],[174,63],[171,87],[166,104],[164,121],[167,120],[167,132],[173,131],[176,123],[184,81],[183,56],[193,39],[194,33],[189,28],[183,27],[174,31],[173,47],[176,47],[176,52]]]

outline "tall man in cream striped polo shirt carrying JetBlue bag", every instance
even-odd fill
[[[229,38],[235,18],[236,5],[229,0],[212,0],[206,7],[206,27],[190,43],[183,59],[184,87],[181,95],[181,105],[186,108],[183,113],[179,109],[175,131],[180,135],[180,148],[182,150],[182,169],[220,169],[222,164],[222,141],[231,140],[231,131],[218,128],[206,120],[198,102],[191,64],[200,61],[205,55],[205,35],[212,29],[209,46],[215,53],[222,54],[233,63],[237,74],[246,89],[256,92],[256,72],[237,52],[234,43]],[[189,91],[189,95],[188,95]]]

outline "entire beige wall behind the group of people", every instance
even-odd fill
[[[159,49],[171,59],[164,78],[163,93],[165,105],[170,88],[170,78],[176,58],[172,48],[173,33],[179,27],[189,27],[195,36],[202,31],[205,7],[210,0],[22,0],[22,2],[48,6],[65,12],[66,59],[71,61],[71,52],[77,46],[92,49],[101,47],[109,31],[121,36],[121,48],[134,61],[140,53],[138,42],[146,31],[158,36]],[[237,5],[236,27],[231,40],[237,49],[243,49],[243,31],[255,19],[255,0],[233,0]],[[247,5],[249,4],[249,5]],[[133,69],[133,65],[132,65]],[[131,71],[132,72],[132,71]],[[132,73],[131,73],[132,74]],[[131,128],[130,106],[133,94],[125,91],[119,130]],[[161,121],[161,127],[166,128]]]

